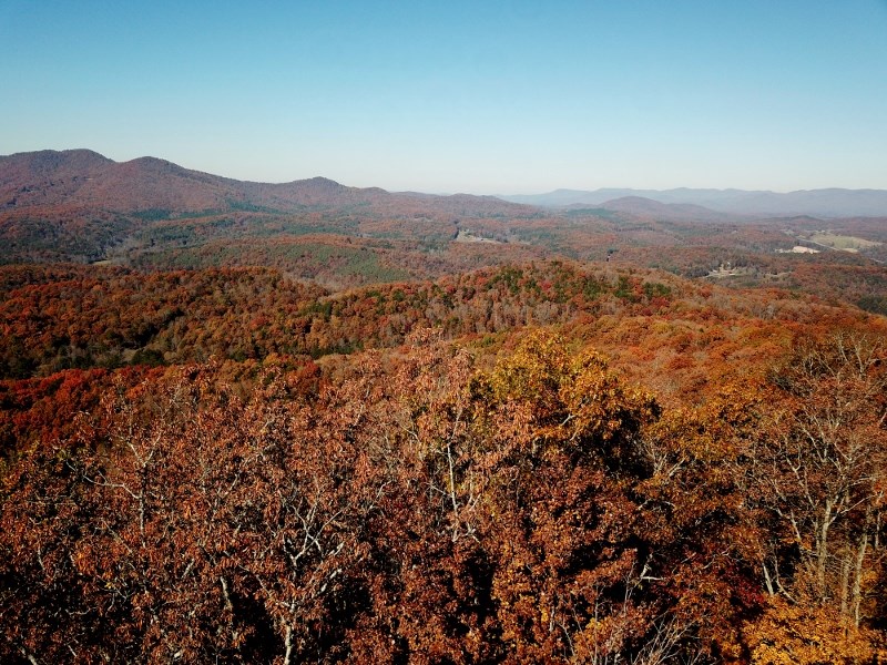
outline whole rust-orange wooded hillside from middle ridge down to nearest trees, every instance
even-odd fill
[[[267,268],[0,284],[7,661],[745,663],[803,628],[849,664],[883,640],[883,317],[560,260],[338,294]]]

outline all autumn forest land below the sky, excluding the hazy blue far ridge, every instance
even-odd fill
[[[883,219],[59,154],[0,163],[1,662],[884,659]]]

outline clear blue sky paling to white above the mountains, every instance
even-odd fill
[[[887,0],[0,0],[0,154],[471,193],[887,188]]]

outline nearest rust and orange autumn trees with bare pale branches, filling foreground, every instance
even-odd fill
[[[696,406],[547,328],[94,370],[2,475],[0,659],[870,662],[884,342],[798,337]]]

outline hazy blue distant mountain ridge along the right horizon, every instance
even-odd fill
[[[704,206],[734,215],[814,215],[819,217],[878,217],[887,215],[887,190],[801,190],[778,193],[746,190],[555,190],[547,194],[500,196],[504,201],[541,207],[603,205],[642,197],[663,204]],[[605,206],[604,206],[605,207]]]

